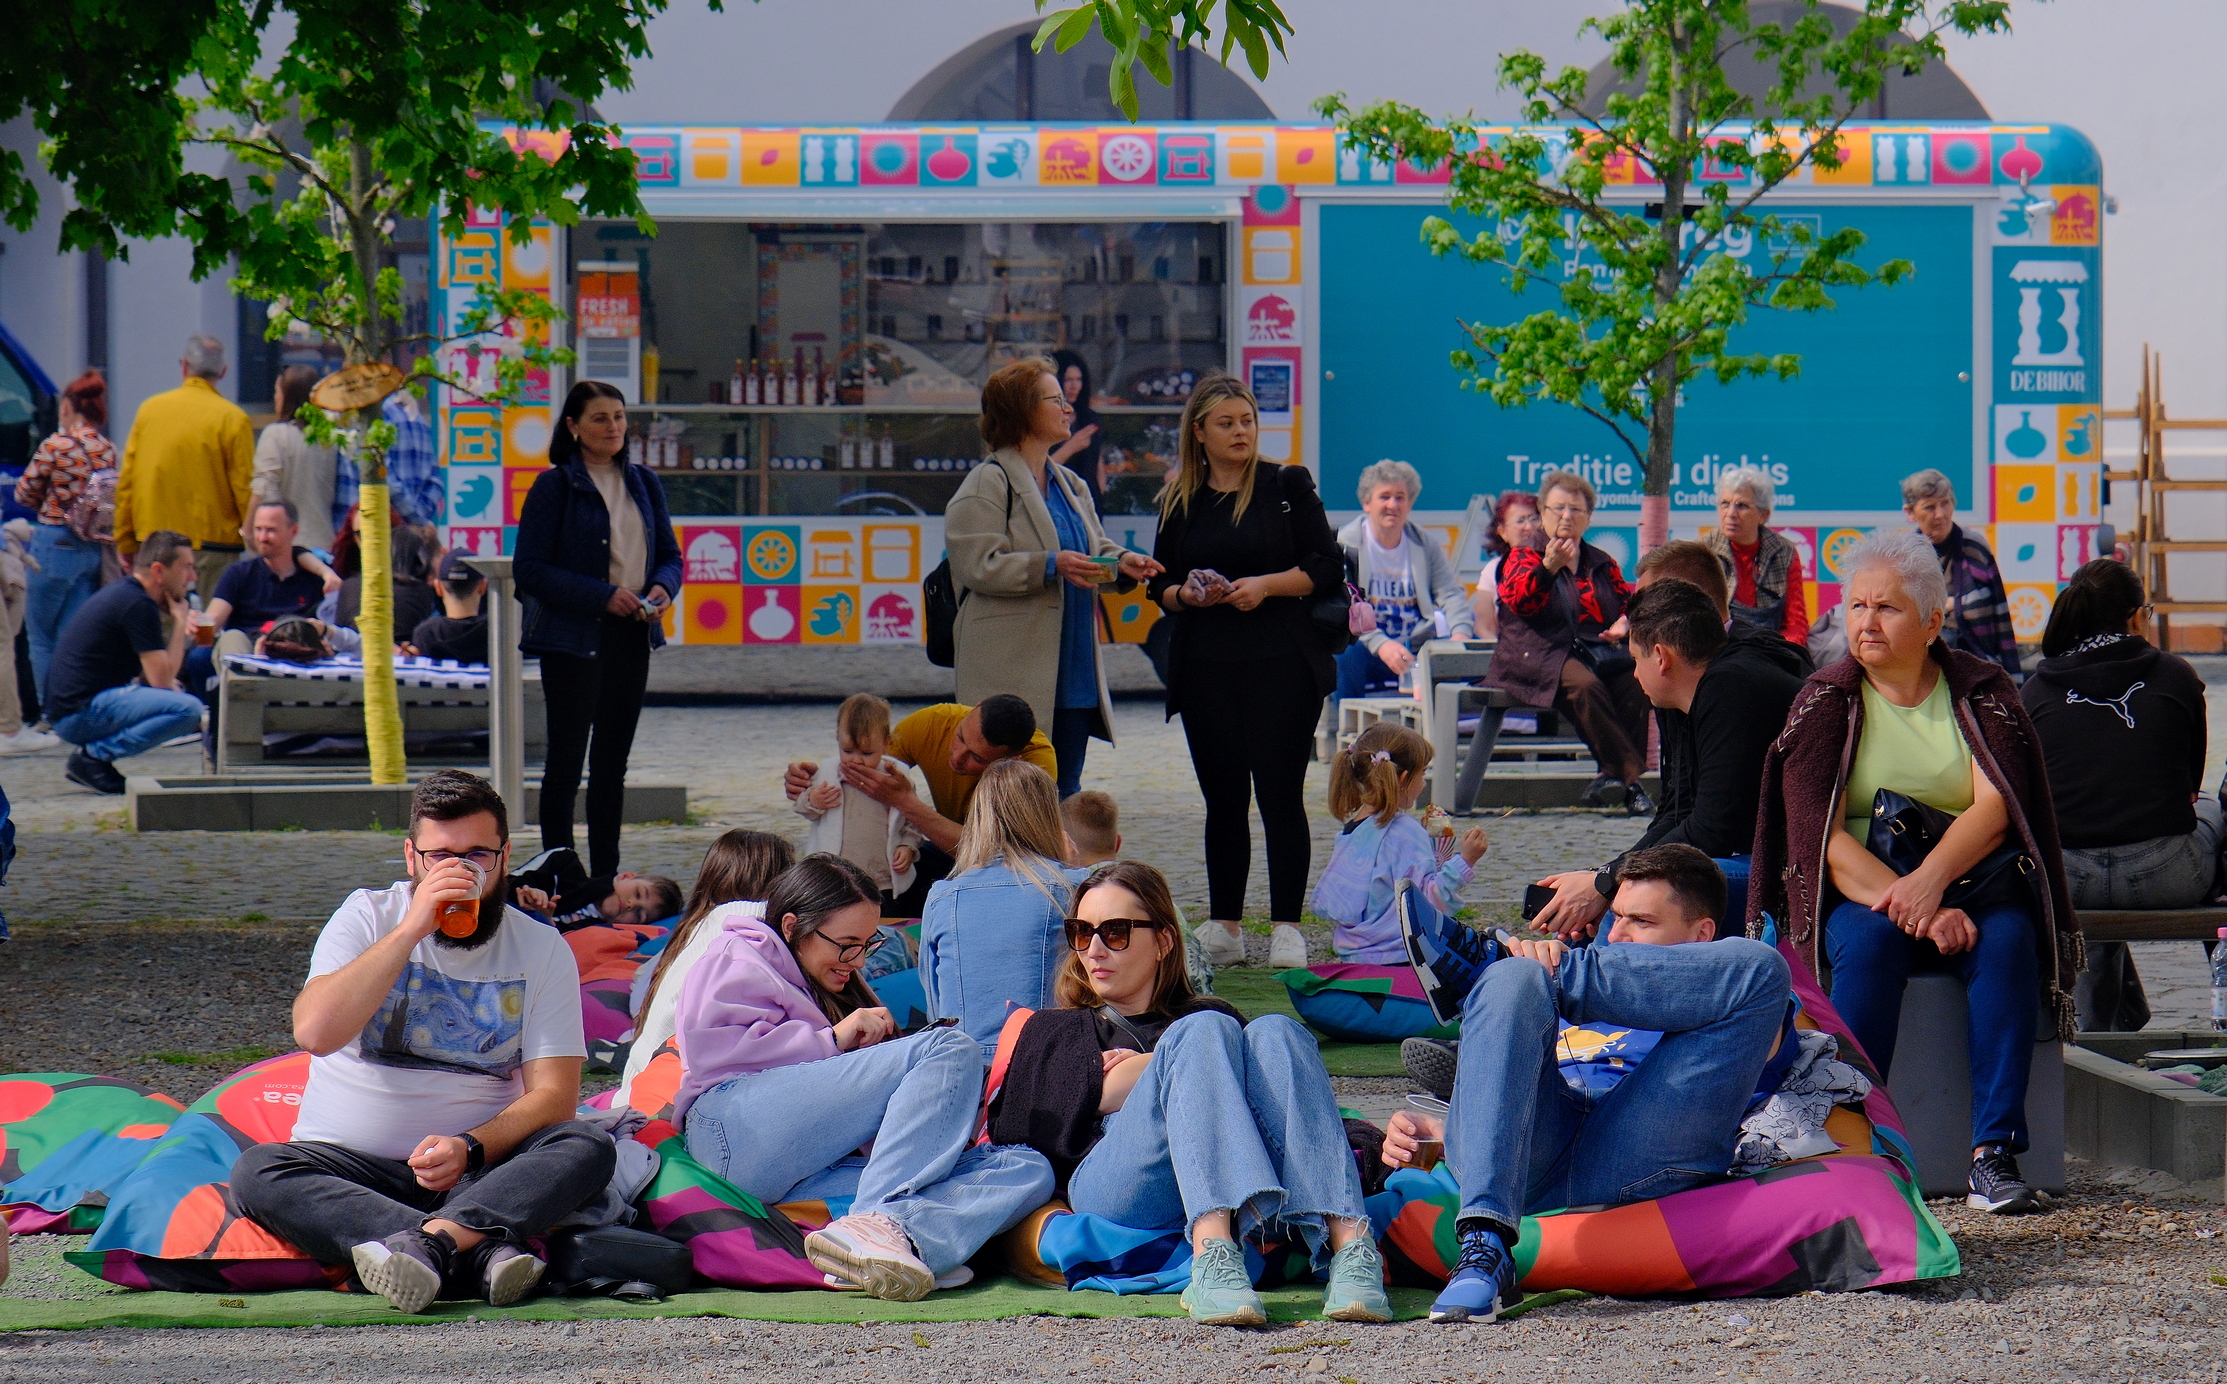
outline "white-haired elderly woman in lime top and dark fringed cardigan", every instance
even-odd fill
[[[1917,533],[1842,566],[1848,657],[1811,675],[1764,760],[1748,927],[1768,914],[1891,1079],[1902,987],[1964,985],[1973,1161],[1966,1201],[2035,1210],[2018,1172],[2035,996],[2073,1030],[2080,923],[2040,738],[2002,666],[1940,642],[1949,586]],[[1875,820],[1877,818],[1877,820]]]

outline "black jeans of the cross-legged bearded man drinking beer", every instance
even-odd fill
[[[318,1264],[347,1264],[359,1244],[434,1217],[523,1248],[601,1197],[617,1157],[610,1134],[575,1119],[534,1130],[508,1159],[450,1190],[428,1192],[401,1159],[339,1143],[258,1143],[232,1166],[232,1197],[247,1219]]]

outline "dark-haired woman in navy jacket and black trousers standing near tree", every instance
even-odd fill
[[[588,767],[588,874],[619,871],[626,758],[635,749],[650,651],[681,588],[681,544],[657,472],[626,459],[626,397],[583,379],[566,394],[550,468],[519,510],[519,649],[541,660],[548,760],[541,847],[572,847],[572,798]],[[592,735],[592,758],[590,758]]]

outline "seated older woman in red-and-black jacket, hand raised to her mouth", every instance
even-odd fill
[[[1639,787],[1648,751],[1648,695],[1623,651],[1623,602],[1632,597],[1617,559],[1586,539],[1592,481],[1552,470],[1539,484],[1541,546],[1501,559],[1501,642],[1485,686],[1525,706],[1552,706],[1572,722],[1599,767],[1586,807],[1606,807],[1621,787],[1635,818],[1655,811]]]

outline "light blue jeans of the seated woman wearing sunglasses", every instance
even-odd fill
[[[1171,1023],[1076,1166],[1067,1201],[1134,1230],[1189,1228],[1211,1210],[1240,1212],[1240,1237],[1281,1221],[1316,1266],[1323,1217],[1365,1215],[1323,1054],[1285,1014],[1245,1027],[1216,1012]]]

